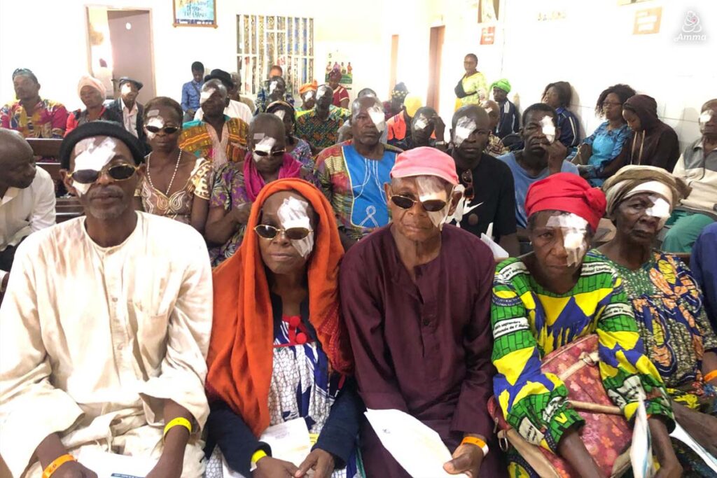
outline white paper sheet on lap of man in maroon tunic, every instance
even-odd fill
[[[366,418],[374,427],[381,444],[414,478],[465,477],[447,474],[450,451],[429,426],[399,410],[367,410]]]

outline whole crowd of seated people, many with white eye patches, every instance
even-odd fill
[[[590,414],[644,414],[658,477],[717,476],[670,437],[717,460],[717,100],[680,154],[629,85],[582,139],[569,82],[518,113],[464,69],[447,122],[403,83],[351,101],[336,70],[300,106],[280,67],[255,101],[200,62],[181,102],[84,76],[71,113],[16,70],[0,476],[95,477],[109,452],[151,478],[409,477],[366,409],[435,431],[447,474],[607,476],[629,442]],[[55,224],[34,138],[62,139],[81,216]],[[584,347],[598,404],[548,366]],[[295,462],[267,429],[297,423]]]

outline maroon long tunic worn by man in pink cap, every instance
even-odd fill
[[[440,434],[452,452],[464,433],[488,437],[481,475],[503,476],[493,421],[490,297],[493,254],[478,237],[444,226],[440,255],[409,276],[386,226],[353,246],[340,269],[341,304],[367,408],[397,408]],[[369,478],[408,477],[365,422]]]

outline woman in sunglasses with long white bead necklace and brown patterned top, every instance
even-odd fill
[[[204,234],[212,192],[212,163],[179,148],[181,105],[156,97],[145,105],[144,129],[152,152],[135,191],[135,209],[189,224]]]

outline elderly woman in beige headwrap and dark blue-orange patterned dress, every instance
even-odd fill
[[[603,186],[614,239],[590,254],[624,279],[647,355],[673,399],[675,419],[717,457],[717,338],[690,269],[653,249],[655,238],[688,186],[662,168],[625,166]],[[685,476],[717,476],[673,441]]]

